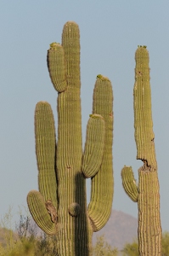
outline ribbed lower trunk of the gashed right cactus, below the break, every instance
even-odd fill
[[[160,195],[157,172],[138,171],[138,249],[140,255],[161,255]]]

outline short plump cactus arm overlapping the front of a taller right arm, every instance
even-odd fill
[[[87,137],[82,156],[82,173],[93,177],[101,166],[104,154],[105,124],[99,114],[91,114],[87,123]]]

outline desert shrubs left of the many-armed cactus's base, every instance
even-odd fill
[[[55,236],[39,233],[31,216],[21,212],[14,231],[13,218],[9,207],[0,222],[0,256],[57,256]]]

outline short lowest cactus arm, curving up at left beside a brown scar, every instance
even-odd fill
[[[41,193],[31,190],[27,195],[27,204],[32,218],[37,225],[48,235],[56,234],[56,212],[49,212]],[[55,218],[54,215],[55,214]],[[52,219],[55,221],[53,222]]]

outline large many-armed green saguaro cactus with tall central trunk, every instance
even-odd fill
[[[39,191],[32,190],[27,203],[39,227],[57,236],[59,255],[87,256],[93,231],[106,224],[112,206],[112,86],[109,79],[97,76],[82,154],[80,35],[75,22],[65,24],[62,44],[50,45],[48,71],[58,91],[58,142],[56,146],[51,107],[48,102],[38,102]],[[86,177],[92,178],[88,207]]]

